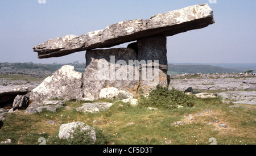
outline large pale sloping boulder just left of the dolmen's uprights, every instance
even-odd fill
[[[34,102],[43,102],[48,99],[81,99],[82,74],[76,72],[73,66],[65,65],[57,70],[51,77],[44,81],[30,94]]]

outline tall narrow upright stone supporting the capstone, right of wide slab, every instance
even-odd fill
[[[145,60],[147,62],[140,68],[139,88],[142,88],[144,93],[147,93],[150,88],[155,88],[158,84],[168,86],[166,40],[166,35],[138,40],[138,61],[143,62]]]

